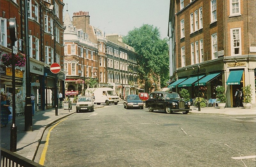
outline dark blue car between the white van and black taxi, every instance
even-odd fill
[[[140,108],[143,109],[143,102],[138,95],[128,95],[124,98],[124,108]]]

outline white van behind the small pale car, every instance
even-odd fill
[[[97,103],[97,105],[100,105],[100,103],[106,103],[106,105],[114,103],[115,105],[117,105],[117,103],[119,102],[119,97],[116,96],[115,90],[111,88],[89,88],[86,89],[86,93],[90,95],[94,93],[94,103]]]

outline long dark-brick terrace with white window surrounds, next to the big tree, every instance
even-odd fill
[[[117,34],[107,35],[108,85],[124,97],[138,94],[137,53]],[[123,91],[122,91],[123,90]]]

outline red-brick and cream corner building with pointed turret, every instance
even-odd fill
[[[83,13],[85,14],[85,13]],[[76,83],[77,79],[86,80],[98,77],[97,43],[90,41],[88,33],[73,25],[68,10],[64,17],[64,71],[67,72],[65,90],[80,94],[88,88],[87,84]],[[98,85],[96,85],[98,86]],[[83,92],[85,93],[85,92]]]

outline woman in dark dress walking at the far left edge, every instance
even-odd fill
[[[9,117],[9,105],[10,100],[7,100],[6,94],[2,95],[1,98],[1,127],[6,127],[8,124],[8,117]]]

